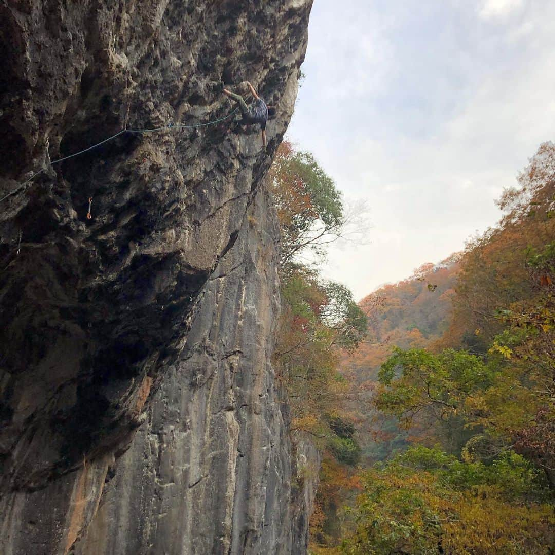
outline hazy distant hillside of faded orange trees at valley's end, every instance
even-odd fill
[[[410,435],[425,433],[413,428],[409,435],[401,430],[395,418],[375,410],[372,395],[380,366],[391,356],[393,347],[430,347],[450,327],[459,258],[454,254],[438,264],[422,264],[410,278],[387,284],[360,302],[369,317],[369,335],[354,353],[344,353],[341,374],[359,391],[352,411],[355,437],[366,464],[406,448]]]

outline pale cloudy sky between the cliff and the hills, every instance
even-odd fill
[[[499,219],[554,139],[554,22],[553,0],[315,0],[287,137],[372,223],[327,278],[360,299]]]

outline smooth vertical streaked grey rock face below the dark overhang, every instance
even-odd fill
[[[79,555],[304,552],[287,397],[269,363],[279,284],[267,202],[257,196],[210,278]]]

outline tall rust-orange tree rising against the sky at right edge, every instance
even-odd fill
[[[480,330],[491,341],[503,329],[496,312],[533,294],[527,268],[530,249],[555,240],[555,145],[543,143],[518,176],[518,188],[503,191],[498,226],[468,242],[456,288],[453,345]],[[457,335],[459,337],[457,337]]]

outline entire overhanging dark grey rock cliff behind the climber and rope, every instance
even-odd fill
[[[1,553],[304,550],[258,191],[310,5],[0,2]],[[245,79],[266,149],[228,119],[46,164],[223,118]]]

